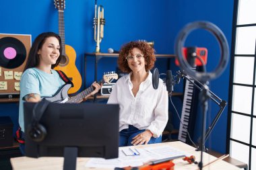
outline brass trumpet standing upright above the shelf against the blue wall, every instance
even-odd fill
[[[99,5],[97,9],[97,0],[95,0],[94,40],[96,41],[96,52],[100,52],[100,42],[103,38],[104,25],[104,8],[102,7],[102,5]]]

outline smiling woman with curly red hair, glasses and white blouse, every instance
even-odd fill
[[[117,62],[121,71],[129,73],[117,81],[108,99],[120,107],[119,146],[162,142],[168,93],[162,79],[158,89],[152,86],[154,49],[147,42],[129,42],[122,46]]]

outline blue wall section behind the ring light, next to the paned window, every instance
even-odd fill
[[[172,33],[174,38],[179,30],[189,22],[195,21],[208,21],[216,24],[222,32],[224,32],[228,44],[230,47],[231,36],[232,36],[232,10],[233,1],[172,1],[173,10],[170,11],[171,23],[172,23]],[[213,71],[218,65],[220,59],[220,50],[218,43],[214,40],[213,36],[209,33],[203,31],[191,32],[191,37],[188,37],[186,44],[188,46],[205,46],[208,49],[208,61],[207,61],[207,71]],[[174,40],[174,39],[172,39]],[[172,41],[173,46],[173,41]],[[218,95],[221,99],[228,100],[228,81],[230,73],[230,65],[226,68],[226,71],[213,81],[210,81],[210,89]],[[216,116],[219,108],[216,103],[212,102],[210,105],[210,112],[207,113],[207,122],[212,122]],[[227,124],[227,111],[228,107],[222,113],[220,120],[216,124],[212,135],[210,136],[207,146],[210,146],[215,151],[224,153],[226,149],[226,124]],[[197,133],[194,139],[199,137],[199,132],[201,132],[201,112],[197,114],[197,124],[195,129]]]

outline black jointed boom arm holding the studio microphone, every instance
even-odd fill
[[[195,87],[197,87],[197,89],[199,89],[200,91],[203,91],[203,89],[205,89],[204,85],[203,85],[201,82],[197,81],[197,79],[193,79],[193,78],[191,77],[191,79],[193,79],[193,80],[196,81],[199,85],[201,85],[201,87],[203,87],[203,89],[202,89],[201,87],[199,87],[199,85],[197,85],[196,83],[194,83],[193,81],[191,81],[191,80],[187,77],[187,75],[183,74],[181,71],[177,71],[177,74],[178,74],[179,79],[184,77],[187,81],[190,81],[191,83],[193,83],[193,85],[195,85]],[[179,80],[178,80],[177,82],[179,83]],[[214,121],[212,122],[212,124],[210,124],[209,128],[207,128],[207,131],[206,131],[206,133],[205,133],[205,140],[204,140],[204,141],[206,141],[207,138],[209,138],[209,136],[210,136],[212,130],[214,129],[214,126],[215,126],[216,123],[218,122],[218,120],[219,120],[219,118],[220,118],[220,116],[221,116],[223,110],[226,108],[226,104],[227,104],[227,102],[226,102],[225,100],[220,99],[220,97],[218,97],[216,94],[214,94],[212,91],[210,91],[210,89],[207,89],[207,91],[210,92],[210,94],[211,94],[211,95],[210,95],[210,98],[211,98],[215,103],[218,104],[218,106],[220,107],[220,110],[218,111],[218,114],[217,114],[216,117],[214,118]]]

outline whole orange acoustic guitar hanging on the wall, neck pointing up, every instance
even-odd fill
[[[59,12],[59,36],[61,37],[62,42],[62,56],[63,59],[59,63],[57,67],[55,67],[55,70],[60,70],[69,77],[69,79],[73,83],[73,87],[69,89],[69,94],[77,92],[81,85],[82,85],[82,77],[77,70],[77,67],[75,66],[75,50],[69,46],[65,45],[65,24],[64,24],[64,9],[65,9],[65,0],[54,0],[55,1],[55,7],[58,9]]]

